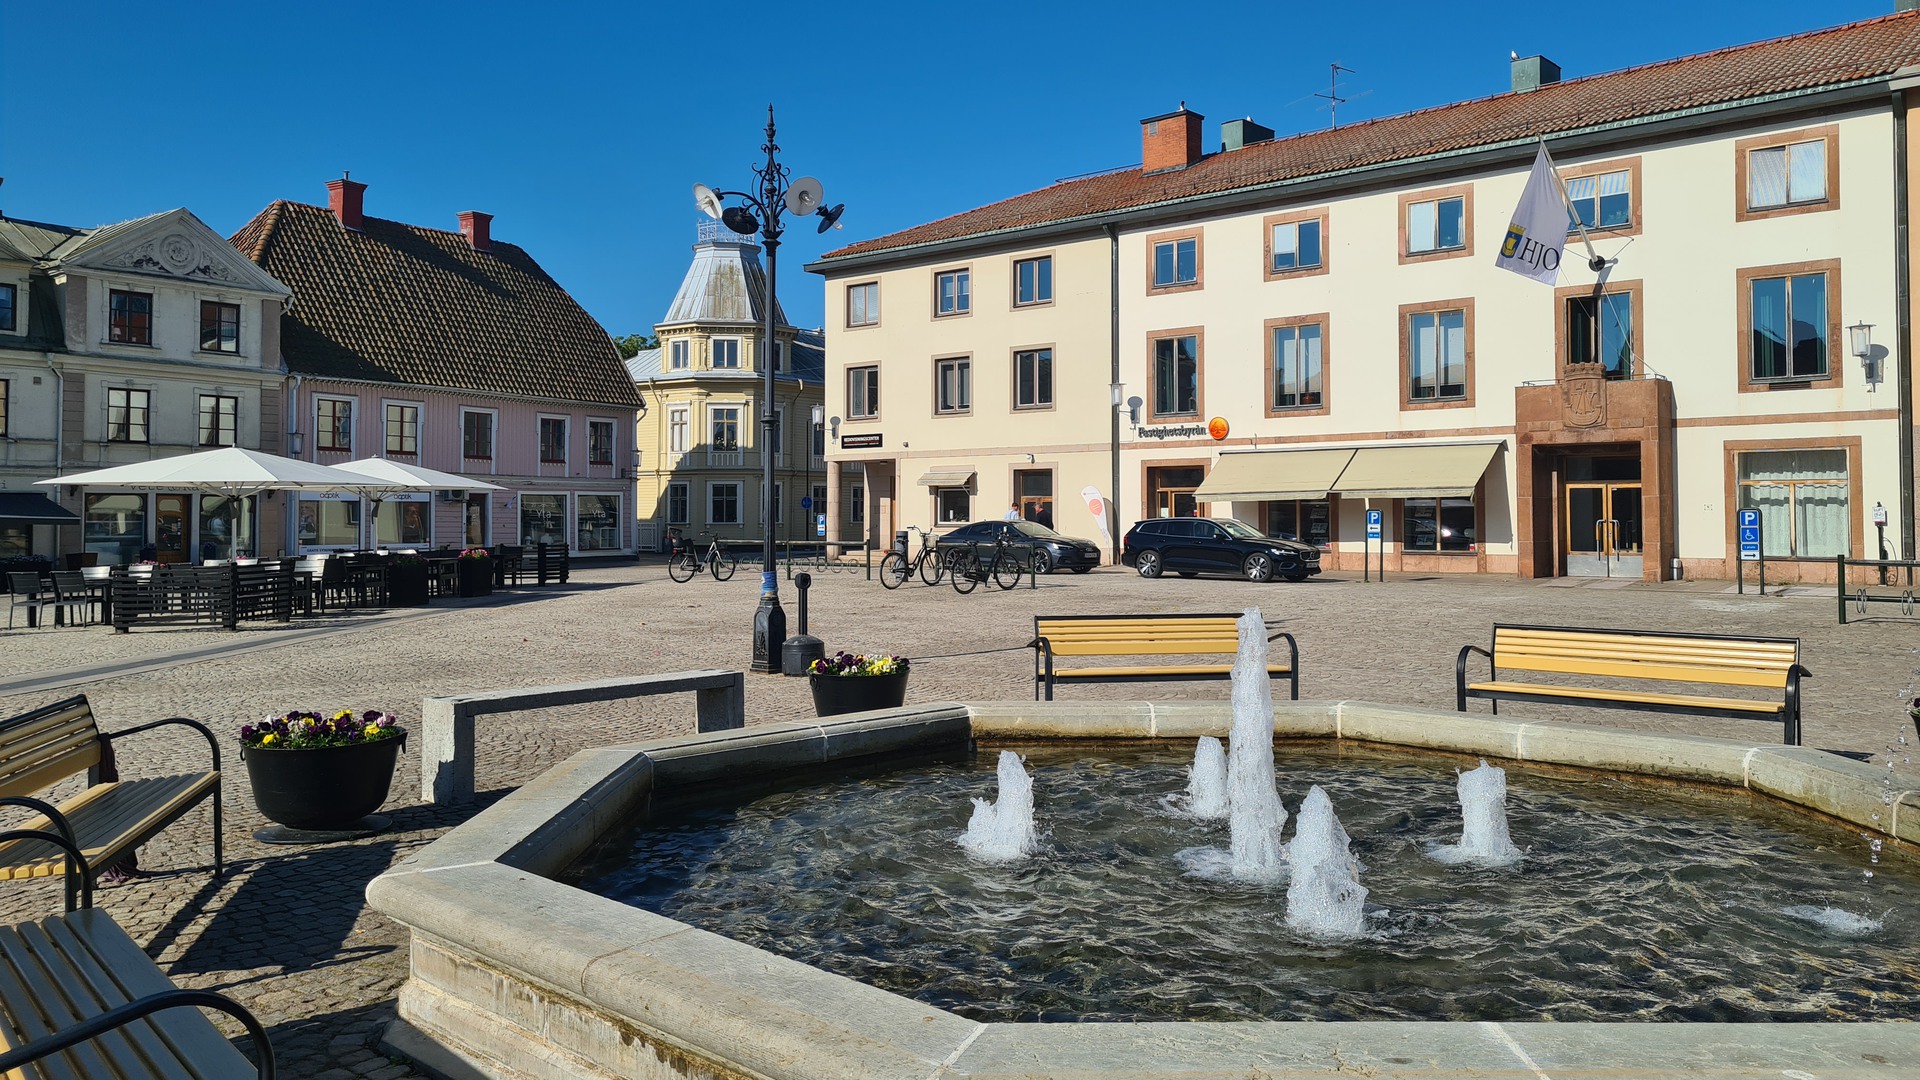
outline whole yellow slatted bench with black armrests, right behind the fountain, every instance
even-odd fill
[[[1488,682],[1467,682],[1471,653],[1488,657],[1492,665]],[[1599,680],[1599,686],[1519,682],[1501,673],[1569,675]],[[1811,676],[1812,673],[1799,663],[1799,638],[1578,626],[1494,625],[1492,650],[1463,646],[1453,663],[1455,707],[1461,713],[1467,711],[1467,698],[1484,698],[1494,703],[1494,713],[1500,713],[1500,701],[1548,701],[1774,721],[1782,724],[1788,746],[1801,744],[1799,680]],[[1776,690],[1778,696],[1755,700],[1670,694],[1644,688],[1644,682],[1743,686]]]

